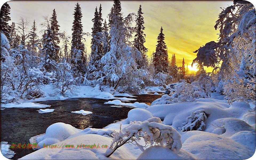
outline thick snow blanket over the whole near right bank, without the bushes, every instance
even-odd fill
[[[128,118],[108,125],[104,129],[86,128],[79,130],[65,123],[49,126],[46,134],[37,138],[38,145],[43,143],[61,145],[74,144],[75,148],[43,148],[21,159],[247,159],[255,152],[255,111],[246,103],[234,102],[229,105],[221,96],[199,98],[193,102],[178,102],[153,105],[147,109],[135,108],[129,111]],[[119,102],[119,101],[117,101]],[[122,103],[121,101],[119,103]],[[131,103],[132,104],[132,103]],[[207,116],[203,131],[181,132],[182,123],[192,112],[201,111]],[[159,117],[163,125],[171,125],[180,134],[182,147],[174,152],[163,146],[147,146],[142,152],[135,145],[119,147],[109,158],[105,157],[106,148],[76,148],[77,145],[110,145],[111,133],[131,125],[130,121],[144,121]],[[159,123],[160,123],[159,119]],[[133,122],[134,123],[134,122]],[[142,122],[141,122],[142,123]],[[152,122],[151,122],[152,123]],[[133,124],[134,127],[136,123]],[[144,146],[143,138],[138,141]],[[79,156],[78,156],[79,155]]]

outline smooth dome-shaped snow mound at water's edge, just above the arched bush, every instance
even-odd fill
[[[149,118],[154,117],[149,111],[141,108],[135,108],[128,112],[128,120],[129,122],[134,121],[146,121]]]

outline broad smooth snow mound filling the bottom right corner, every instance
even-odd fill
[[[230,138],[213,133],[188,131],[181,137],[184,141],[182,149],[193,154],[196,159],[247,159],[255,152],[255,149],[251,150]]]

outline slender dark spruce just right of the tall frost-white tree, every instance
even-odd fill
[[[135,19],[136,22],[136,27],[135,27],[135,37],[134,37],[134,47],[136,47],[142,54],[142,61],[137,61],[136,63],[138,64],[138,69],[141,69],[142,66],[146,65],[146,53],[147,53],[147,48],[144,46],[144,43],[146,42],[145,37],[146,34],[144,33],[145,27],[143,26],[144,24],[144,18],[142,17],[142,11],[141,11],[141,5],[139,5],[139,10],[138,10],[138,15],[137,18]]]

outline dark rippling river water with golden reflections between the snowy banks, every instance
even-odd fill
[[[136,101],[128,103],[140,102],[150,105],[155,99],[161,95],[136,95],[132,97]],[[118,97],[118,96],[117,96]],[[129,98],[129,97],[127,97]],[[51,107],[43,109],[55,109],[50,113],[38,113],[40,108],[5,108],[1,110],[1,142],[28,144],[29,139],[35,135],[45,133],[47,127],[53,123],[63,122],[70,124],[77,129],[85,129],[87,127],[101,129],[107,125],[127,118],[130,107],[110,107],[110,104],[104,102],[112,101],[97,98],[70,98],[66,100],[49,100],[37,102],[41,104],[51,105]],[[82,115],[71,113],[71,111],[91,111],[92,114]],[[11,149],[16,154],[11,159],[18,159],[27,154],[34,152],[33,149]]]

